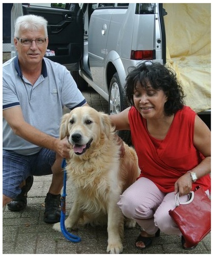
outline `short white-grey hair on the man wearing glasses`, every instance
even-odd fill
[[[42,16],[23,15],[18,17],[15,22],[14,37],[20,37],[20,30],[22,29],[37,31],[42,28],[44,28],[45,37],[48,37],[47,26],[48,26],[48,21]]]

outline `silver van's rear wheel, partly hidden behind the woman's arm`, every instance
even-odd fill
[[[126,96],[120,84],[118,73],[116,72],[114,73],[114,76],[112,76],[109,87],[108,113],[109,115],[114,115],[120,113],[127,107],[128,104],[126,102]],[[131,145],[130,131],[118,131],[117,134],[124,142],[126,142],[128,145]]]

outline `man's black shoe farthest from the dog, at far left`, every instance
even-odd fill
[[[34,177],[29,176],[26,179],[25,186],[22,187],[21,193],[16,196],[8,205],[8,209],[12,212],[19,212],[26,208],[27,206],[27,193],[31,189],[34,182]]]

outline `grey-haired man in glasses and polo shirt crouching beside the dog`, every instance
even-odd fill
[[[44,58],[47,21],[17,18],[14,45],[18,56],[3,64],[3,206],[25,209],[33,175],[52,174],[44,221],[60,221],[61,162],[69,157],[66,138],[58,139],[63,107],[88,105],[70,72]]]

